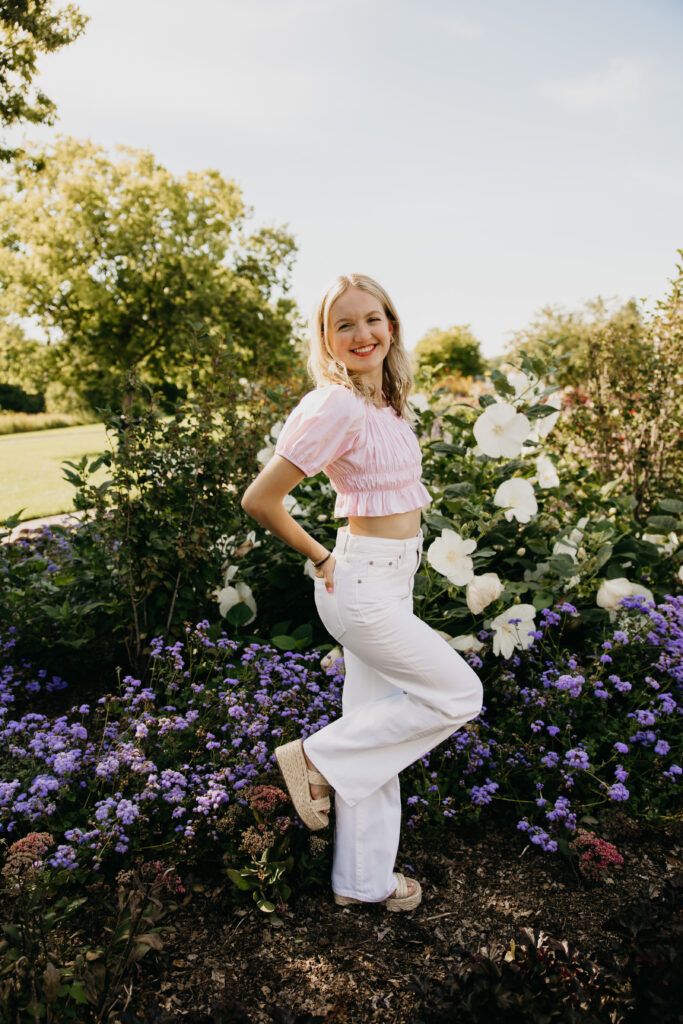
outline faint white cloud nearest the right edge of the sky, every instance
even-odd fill
[[[574,111],[613,110],[639,99],[645,91],[644,61],[611,57],[602,71],[563,82],[547,82],[543,95]]]

